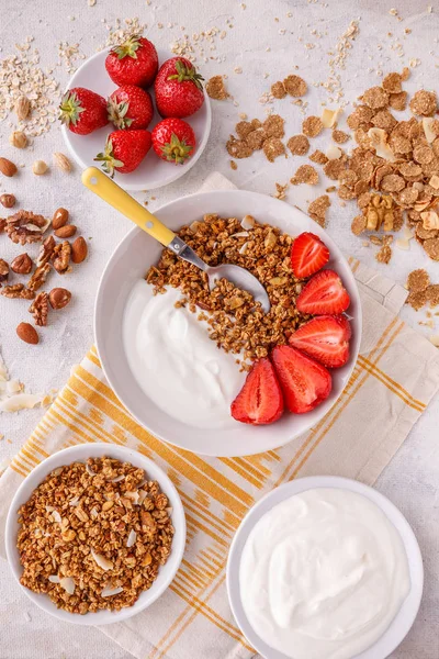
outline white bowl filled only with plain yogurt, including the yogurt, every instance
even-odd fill
[[[243,520],[227,563],[236,622],[264,659],[384,659],[410,629],[423,583],[403,514],[338,477],[272,490]]]

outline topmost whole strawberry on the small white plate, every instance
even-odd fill
[[[134,35],[112,48],[105,59],[105,68],[116,85],[149,87],[158,69],[157,51],[150,41]]]

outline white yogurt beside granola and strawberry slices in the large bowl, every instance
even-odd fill
[[[130,368],[145,394],[170,416],[202,428],[235,425],[230,403],[245,373],[236,355],[209,338],[198,314],[176,309],[180,297],[176,289],[153,297],[146,281],[136,283],[123,321]]]

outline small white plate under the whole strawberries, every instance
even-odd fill
[[[72,89],[74,87],[86,87],[87,89],[91,89],[92,91],[100,93],[106,99],[115,89],[117,89],[117,85],[111,80],[105,69],[105,57],[109,51],[110,48],[105,48],[104,51],[92,55],[89,57],[89,59],[86,59],[82,66],[80,66],[71,77],[66,90]],[[160,48],[157,48],[157,53],[159,66],[166,59],[169,59],[172,56]],[[153,97],[154,108],[156,108],[154,87],[151,86],[148,91]],[[148,131],[153,131],[154,126],[160,120],[161,116],[155,109],[153,121],[148,126]],[[137,169],[131,174],[120,174],[119,171],[115,171],[115,182],[121,186],[121,188],[124,188],[124,190],[154,190],[155,188],[161,188],[161,186],[172,183],[180,177],[184,176],[184,174],[187,174],[200,158],[205,145],[207,144],[209,133],[211,132],[211,102],[205,90],[203,105],[198,112],[191,116],[188,116],[184,121],[192,126],[196,139],[195,150],[192,157],[189,158],[184,165],[172,165],[172,163],[166,163],[165,160],[161,160],[158,156],[156,156],[151,147],[144,161],[139,165],[139,167],[137,167]],[[65,125],[61,127],[63,137],[67,144],[67,147],[75,160],[78,163],[79,167],[82,169],[86,169],[91,165],[97,165],[97,167],[100,166],[99,163],[93,161],[93,158],[95,158],[97,154],[103,152],[106,136],[116,130],[116,126],[114,126],[112,123],[109,123],[103,129],[90,133],[90,135],[76,135],[75,133],[71,133],[71,131],[69,131]]]

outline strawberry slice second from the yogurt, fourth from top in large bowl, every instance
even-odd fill
[[[328,398],[333,380],[322,364],[290,346],[275,346],[271,358],[290,412],[311,412]]]

